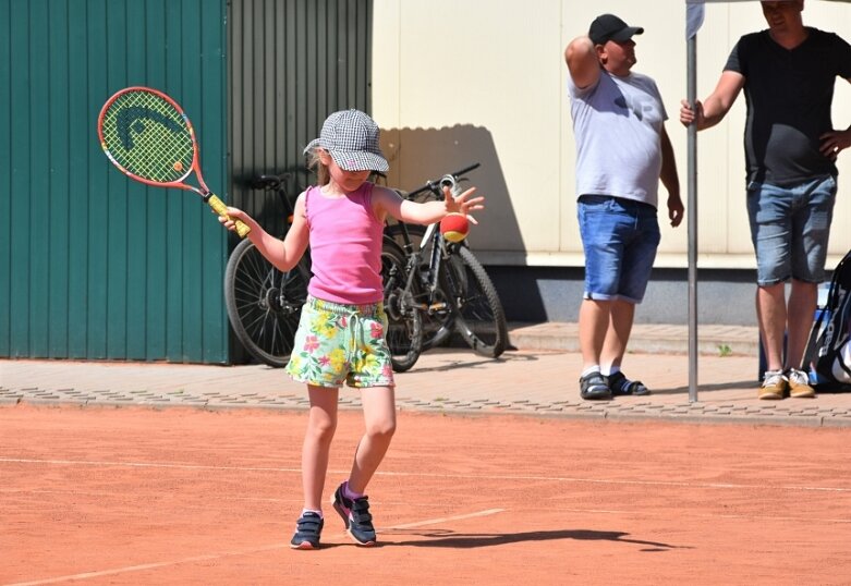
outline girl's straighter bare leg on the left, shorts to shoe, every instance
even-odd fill
[[[307,386],[311,413],[302,447],[304,508],[321,511],[323,487],[328,472],[328,454],[337,430],[337,400],[340,389]]]

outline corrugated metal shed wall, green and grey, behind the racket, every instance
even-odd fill
[[[0,357],[241,361],[234,237],[194,194],[113,168],[97,115],[130,85],[171,95],[210,188],[275,230],[246,182],[303,164],[328,113],[369,111],[372,5],[0,0]]]

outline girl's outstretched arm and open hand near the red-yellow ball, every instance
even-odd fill
[[[469,216],[471,211],[485,209],[482,203],[484,197],[472,197],[476,193],[475,187],[470,187],[458,197],[452,197],[449,187],[443,187],[443,202],[412,202],[402,199],[393,190],[375,186],[373,190],[373,208],[380,220],[391,216],[406,223],[429,224],[439,222],[447,213],[463,213],[472,223],[478,223],[475,218]]]

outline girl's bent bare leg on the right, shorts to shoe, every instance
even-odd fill
[[[357,443],[349,476],[349,489],[365,493],[366,486],[384,460],[396,431],[396,391],[393,387],[369,387],[361,391],[366,432]]]

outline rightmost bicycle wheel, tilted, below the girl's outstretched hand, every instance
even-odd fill
[[[508,343],[497,290],[470,248],[462,244],[448,247],[452,254],[443,261],[440,278],[454,310],[455,329],[473,352],[496,358]]]

